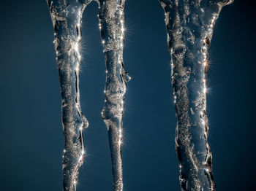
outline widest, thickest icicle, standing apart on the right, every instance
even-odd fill
[[[219,12],[233,0],[159,1],[171,55],[181,190],[215,190],[207,141],[208,49]]]

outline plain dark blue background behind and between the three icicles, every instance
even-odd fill
[[[211,43],[208,117],[217,190],[254,190],[255,14],[246,1],[222,9]],[[164,12],[157,0],[127,0],[124,64],[124,190],[180,190],[176,117]],[[0,190],[62,190],[61,97],[53,26],[45,1],[0,6]],[[111,190],[108,135],[100,112],[105,61],[97,4],[83,15],[81,105],[86,161],[79,190]]]

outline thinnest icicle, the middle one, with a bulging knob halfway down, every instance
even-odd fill
[[[105,106],[102,118],[108,128],[113,190],[123,190],[121,158],[124,96],[130,77],[124,70],[124,0],[99,0],[99,29],[106,64]]]

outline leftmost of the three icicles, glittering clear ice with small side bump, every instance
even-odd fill
[[[64,154],[62,158],[63,189],[74,191],[85,149],[83,129],[89,123],[80,108],[79,70],[82,14],[90,1],[48,0],[54,28],[54,47],[59,70],[62,98]]]

